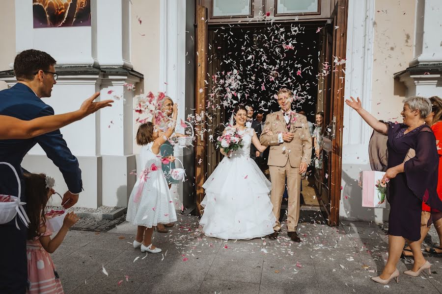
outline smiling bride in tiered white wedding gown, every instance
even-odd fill
[[[247,110],[234,110],[236,128],[243,137],[243,147],[225,157],[204,183],[206,196],[201,205],[200,224],[206,236],[220,239],[253,239],[273,233],[275,216],[269,194],[271,183],[250,158],[250,144],[263,152],[253,128],[246,127]],[[228,126],[227,128],[232,128]]]

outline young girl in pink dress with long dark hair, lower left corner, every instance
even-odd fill
[[[63,225],[53,239],[53,232],[46,221],[46,203],[55,194],[54,180],[45,174],[27,173],[24,175],[29,217],[27,258],[29,294],[62,294],[60,278],[55,270],[51,255],[63,242],[67,231],[79,218],[73,212],[64,218]]]

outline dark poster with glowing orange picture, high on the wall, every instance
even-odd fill
[[[90,26],[91,0],[32,0],[34,28]]]

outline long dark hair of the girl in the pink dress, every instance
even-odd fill
[[[28,240],[40,235],[40,226],[46,222],[46,204],[49,188],[46,188],[46,174],[25,173],[26,213],[29,218]]]

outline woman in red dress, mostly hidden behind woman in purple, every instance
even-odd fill
[[[442,99],[433,96],[430,98],[432,112],[425,119],[425,123],[431,126],[431,129],[434,132],[436,137],[436,144],[438,147],[439,153],[439,175],[438,175],[438,196],[442,200]],[[422,217],[420,221],[420,244],[422,244],[423,240],[428,234],[430,227],[427,226],[428,219],[430,218],[430,206],[422,202]],[[432,254],[442,254],[442,219],[434,222],[434,226],[436,227],[436,231],[439,235],[439,246],[433,248],[425,248],[426,252]],[[402,252],[403,256],[413,256],[413,253],[410,249],[410,246],[404,248]]]

